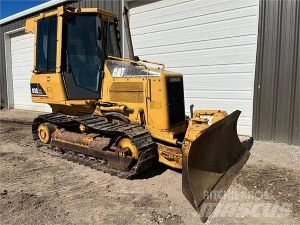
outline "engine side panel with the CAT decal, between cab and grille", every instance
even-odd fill
[[[103,102],[124,104],[128,108],[142,109],[149,129],[169,130],[169,103],[167,79],[182,79],[180,73],[146,70],[142,66],[107,60],[102,92]],[[183,92],[183,90],[182,90]],[[134,120],[134,114],[127,115]],[[184,123],[184,117],[182,118]]]

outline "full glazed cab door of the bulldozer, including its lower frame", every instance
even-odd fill
[[[68,99],[98,99],[103,79],[101,18],[70,15],[63,21],[62,74]]]

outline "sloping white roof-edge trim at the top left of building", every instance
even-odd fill
[[[30,9],[27,9],[27,10],[24,10],[22,12],[19,12],[19,13],[16,13],[14,15],[11,15],[11,16],[8,16],[4,19],[1,19],[0,20],[0,24],[4,24],[4,23],[7,23],[7,22],[10,22],[12,20],[15,20],[15,19],[18,19],[18,18],[21,18],[21,17],[24,17],[24,16],[27,16],[29,14],[33,14],[33,13],[36,13],[38,11],[41,11],[41,10],[45,10],[47,8],[51,8],[51,7],[54,7],[56,5],[62,5],[63,3],[65,2],[69,2],[70,0],[52,0],[52,1],[49,1],[49,2],[46,2],[46,3],[43,3],[41,5],[38,5],[38,6],[35,6],[35,7],[32,7]]]

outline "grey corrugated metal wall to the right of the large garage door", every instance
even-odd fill
[[[261,1],[253,135],[300,144],[300,1]]]

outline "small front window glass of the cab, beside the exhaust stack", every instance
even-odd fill
[[[104,35],[106,53],[109,56],[120,57],[116,28],[115,24],[112,21],[104,20]]]

